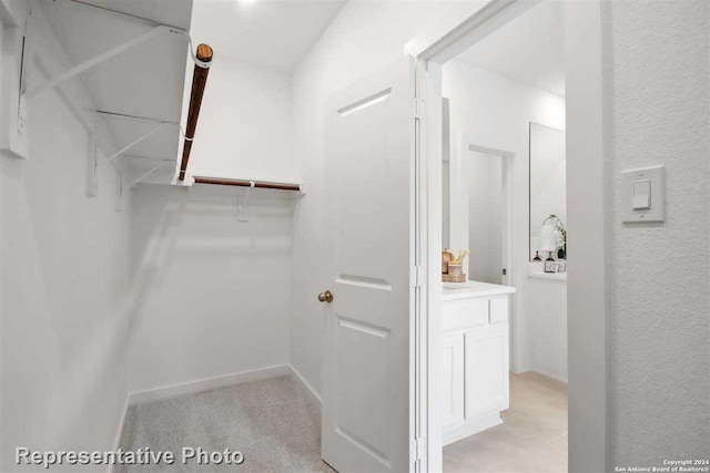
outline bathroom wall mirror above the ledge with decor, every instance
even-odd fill
[[[530,260],[567,256],[565,179],[565,132],[530,122]]]

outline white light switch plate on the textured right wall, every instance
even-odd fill
[[[645,185],[650,183],[648,187]],[[633,195],[633,189],[650,191],[648,208],[637,208],[639,202],[646,199]],[[632,222],[665,222],[666,220],[666,168],[663,166],[646,167],[642,169],[625,171],[621,173],[621,220]]]

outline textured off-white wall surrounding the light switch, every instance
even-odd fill
[[[708,457],[708,9],[686,0],[605,10],[610,466]],[[657,164],[667,168],[666,223],[622,224],[619,173]]]

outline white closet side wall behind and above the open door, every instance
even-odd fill
[[[404,45],[450,6],[446,1],[349,1],[293,76],[295,163],[307,184],[293,253],[291,361],[317,391],[326,310],[316,295],[331,282],[322,263],[323,119],[328,93],[402,60]]]

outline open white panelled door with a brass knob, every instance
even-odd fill
[[[326,104],[322,456],[341,473],[410,470],[414,114],[409,58]]]

